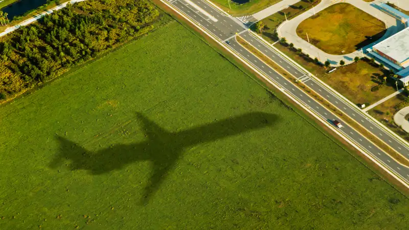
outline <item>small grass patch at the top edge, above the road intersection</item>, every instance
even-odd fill
[[[249,1],[231,1],[229,0],[211,0],[224,11],[234,16],[254,14],[265,8],[272,6],[282,0],[249,0]],[[230,3],[230,7],[229,7]]]

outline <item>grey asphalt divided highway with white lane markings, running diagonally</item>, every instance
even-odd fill
[[[307,85],[321,97],[330,101],[334,107],[342,110],[351,119],[354,119],[356,122],[360,123],[369,132],[383,140],[391,148],[409,159],[409,149],[406,147],[406,145],[391,136],[391,134],[385,132],[379,126],[379,124],[367,118],[364,114],[362,114],[360,109],[345,102],[338,95],[327,90],[327,88],[319,81],[308,77],[307,73],[297,66],[292,65],[291,62],[287,61],[277,51],[271,49],[261,39],[250,33],[246,29],[245,25],[243,25],[243,23],[241,23],[237,18],[222,13],[220,10],[207,3],[206,0],[170,0],[168,3],[178,11],[183,12],[185,16],[188,16],[196,24],[200,25],[202,28],[205,28],[207,32],[213,34],[215,37],[220,39],[220,41],[226,42],[226,40],[229,40],[230,44],[226,45],[234,50],[239,56],[249,62],[249,64],[251,64],[254,68],[268,76],[271,81],[274,81],[288,94],[303,102],[307,108],[314,111],[324,120],[327,120],[331,124],[331,121],[334,119],[341,121],[344,127],[339,129],[340,132],[349,137],[350,140],[353,140],[356,145],[359,145],[360,148],[365,149],[372,155],[373,158],[381,162],[385,168],[388,168],[395,175],[399,176],[400,179],[409,184],[409,168],[396,162],[392,157],[376,147],[367,138],[363,137],[347,123],[343,122],[342,119],[335,116],[319,102],[316,102],[309,95],[304,93],[304,91],[300,90],[297,86],[294,86],[292,82],[276,73],[255,55],[241,47],[235,39],[236,33],[240,34],[240,36],[249,44],[256,47],[260,52],[263,52],[282,68],[290,72],[294,77],[298,78],[300,82]],[[212,16],[211,18],[209,17],[209,14]]]

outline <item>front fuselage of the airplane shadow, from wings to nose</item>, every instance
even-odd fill
[[[263,112],[246,113],[181,131],[176,133],[176,135],[177,138],[184,143],[185,147],[187,147],[193,144],[238,135],[250,130],[269,127],[278,119],[279,117],[275,114]]]

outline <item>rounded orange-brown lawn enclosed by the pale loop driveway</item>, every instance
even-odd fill
[[[385,31],[385,24],[377,18],[348,3],[339,3],[305,19],[297,35],[307,40],[308,33],[311,44],[329,54],[347,54],[379,39]]]

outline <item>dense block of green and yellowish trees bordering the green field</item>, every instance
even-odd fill
[[[146,33],[158,15],[147,0],[89,0],[0,38],[0,99]]]

